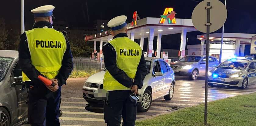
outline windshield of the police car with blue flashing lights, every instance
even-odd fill
[[[243,70],[246,68],[247,64],[248,63],[246,62],[225,61],[221,65],[219,65],[217,68]]]

